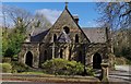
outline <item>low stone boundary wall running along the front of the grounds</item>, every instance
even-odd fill
[[[37,74],[2,74],[3,81],[31,81],[52,83],[99,83],[94,76],[68,76],[68,75],[37,75]]]

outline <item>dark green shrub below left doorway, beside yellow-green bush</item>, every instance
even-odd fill
[[[29,68],[21,62],[12,61],[12,72],[26,72]]]

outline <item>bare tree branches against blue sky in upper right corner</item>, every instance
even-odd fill
[[[99,2],[97,7],[102,25],[112,29],[131,27],[131,2]]]

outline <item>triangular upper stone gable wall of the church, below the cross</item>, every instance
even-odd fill
[[[64,31],[64,27],[69,27],[68,35],[71,39],[71,43],[75,43],[75,35],[79,36],[79,43],[90,43],[83,31],[74,22],[73,17],[67,10],[63,11],[57,22],[51,26],[43,43],[53,43],[53,35],[57,35],[58,38]]]

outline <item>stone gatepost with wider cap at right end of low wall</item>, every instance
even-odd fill
[[[102,63],[102,82],[108,82],[108,63]]]

